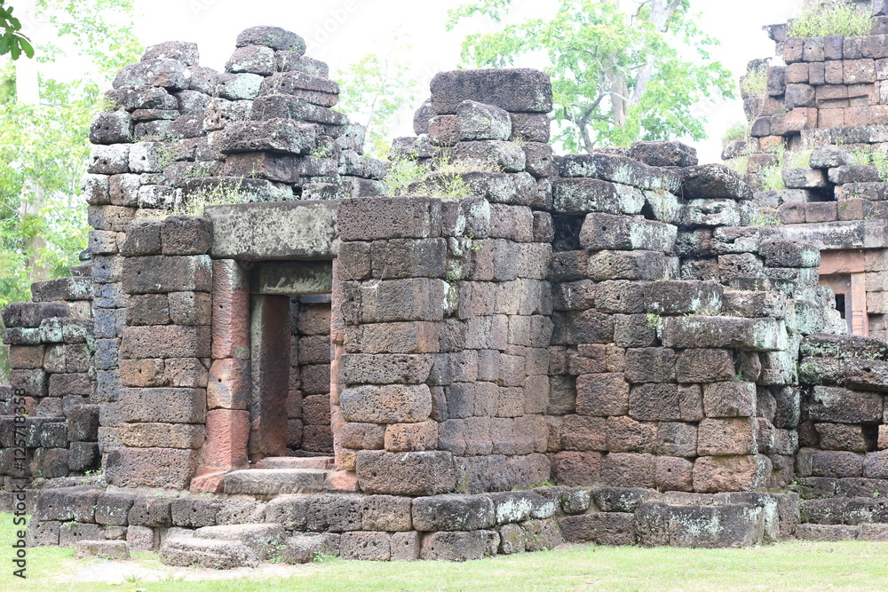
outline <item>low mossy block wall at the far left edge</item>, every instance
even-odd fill
[[[37,282],[3,312],[11,386],[0,387],[0,475],[12,491],[99,469],[89,265]],[[21,457],[24,453],[24,458]]]

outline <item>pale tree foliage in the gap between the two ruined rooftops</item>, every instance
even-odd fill
[[[416,78],[408,66],[408,47],[396,45],[381,56],[369,53],[337,72],[339,105],[367,129],[365,150],[385,159],[392,145],[394,126],[412,117],[416,107]]]

